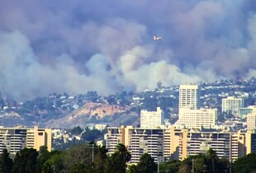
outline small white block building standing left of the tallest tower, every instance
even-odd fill
[[[141,128],[157,128],[162,124],[164,124],[164,111],[160,107],[156,111],[140,111]]]

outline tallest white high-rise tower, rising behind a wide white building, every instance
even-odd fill
[[[199,104],[199,87],[197,85],[179,86],[179,109],[191,108],[197,110]]]

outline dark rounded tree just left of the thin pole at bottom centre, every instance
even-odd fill
[[[157,165],[154,162],[154,158],[148,153],[143,154],[140,157],[137,170],[139,173],[154,173],[154,171],[157,171]]]

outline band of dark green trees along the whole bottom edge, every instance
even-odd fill
[[[206,154],[188,157],[183,161],[162,162],[159,166],[145,153],[140,162],[130,165],[131,155],[127,147],[119,143],[114,154],[107,155],[106,147],[94,143],[78,144],[66,151],[48,152],[25,148],[11,159],[6,149],[0,156],[0,172],[4,173],[254,173],[256,154],[241,157],[230,168],[230,162],[217,157],[210,149]]]

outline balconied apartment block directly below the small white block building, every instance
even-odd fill
[[[144,153],[149,153],[154,161],[164,161],[164,130],[160,128],[134,128],[121,126],[107,128],[106,147],[110,154],[115,152],[116,145],[123,143],[131,154],[130,163],[138,163]]]

